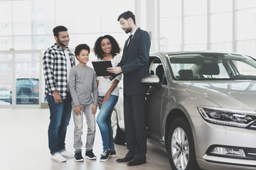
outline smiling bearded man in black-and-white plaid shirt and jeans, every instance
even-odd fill
[[[65,162],[65,157],[74,157],[65,150],[65,135],[72,110],[68,79],[70,69],[75,66],[75,56],[68,48],[68,29],[57,26],[53,28],[53,34],[56,42],[43,55],[46,99],[50,108],[48,145],[51,159]]]

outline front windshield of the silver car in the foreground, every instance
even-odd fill
[[[256,79],[256,61],[246,55],[187,53],[167,57],[177,80]]]

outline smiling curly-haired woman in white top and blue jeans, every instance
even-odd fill
[[[120,47],[117,41],[111,35],[104,35],[98,38],[93,47],[98,60],[110,60],[112,66],[117,66],[121,60],[118,55]],[[119,74],[115,79],[110,80],[110,77],[97,77],[98,85],[98,106],[100,113],[97,115],[97,125],[100,128],[102,135],[103,154],[100,161],[106,162],[110,157],[116,157],[114,150],[113,131],[111,126],[111,113],[119,97],[119,89],[117,84],[122,78]]]

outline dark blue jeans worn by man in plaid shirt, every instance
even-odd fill
[[[50,108],[48,145],[50,154],[56,154],[65,151],[65,135],[70,122],[72,98],[68,93],[67,98],[63,99],[60,104],[55,103],[53,96],[47,95],[46,99]]]

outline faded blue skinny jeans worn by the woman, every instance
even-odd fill
[[[104,98],[104,96],[99,96]],[[115,104],[117,103],[118,96],[111,95],[107,102],[103,103],[100,108],[100,113],[97,115],[97,125],[100,128],[102,136],[103,150],[114,150],[113,130],[111,126],[111,113]]]

